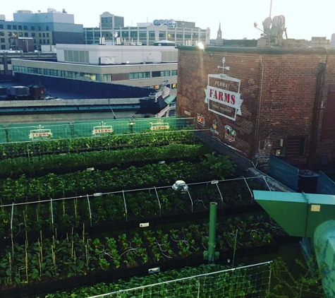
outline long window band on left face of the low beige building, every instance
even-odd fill
[[[83,76],[85,78],[90,78],[92,81],[100,80],[100,75],[97,73],[79,73],[77,71],[58,71],[56,69],[26,67],[26,66],[13,66],[13,71],[16,71],[18,73],[41,74],[44,76],[58,76],[62,78],[76,78],[78,76]]]

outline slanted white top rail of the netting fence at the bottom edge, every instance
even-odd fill
[[[165,282],[157,282],[157,283],[154,283],[152,285],[142,285],[140,287],[133,287],[131,289],[126,289],[126,290],[118,290],[116,292],[109,292],[109,293],[106,293],[106,294],[100,294],[100,295],[91,296],[91,297],[88,297],[88,298],[107,297],[107,296],[110,296],[112,294],[117,294],[118,295],[118,294],[123,293],[123,292],[142,290],[142,289],[145,289],[147,287],[155,287],[157,285],[163,285],[163,284],[166,285],[166,284],[169,284],[171,282],[180,282],[180,281],[183,281],[183,280],[191,280],[191,279],[195,279],[195,278],[205,278],[206,276],[209,276],[209,275],[220,274],[220,273],[227,273],[227,272],[235,271],[235,270],[248,269],[248,268],[252,268],[252,267],[255,267],[255,266],[269,265],[271,263],[272,263],[272,261],[267,261],[267,262],[264,262],[264,263],[257,263],[257,264],[248,265],[248,266],[241,266],[241,267],[237,267],[237,268],[230,268],[230,269],[215,271],[215,272],[211,272],[211,273],[203,273],[203,274],[199,274],[199,275],[188,276],[187,278],[178,278],[177,280],[167,280]]]

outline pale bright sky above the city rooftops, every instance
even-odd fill
[[[333,0],[15,0],[0,6],[0,14],[13,20],[19,10],[47,12],[48,8],[74,15],[75,23],[84,27],[99,27],[99,15],[108,11],[123,16],[124,25],[152,22],[155,19],[174,19],[195,22],[197,27],[211,30],[217,37],[221,22],[222,37],[227,40],[250,40],[260,37],[262,21],[283,15],[288,38],[311,40],[335,32],[335,1]],[[270,14],[271,11],[271,14]]]

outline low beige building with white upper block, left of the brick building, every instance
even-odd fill
[[[162,81],[176,88],[178,50],[175,47],[132,47],[99,44],[57,44],[57,60],[12,59],[13,74],[75,78],[138,87]]]

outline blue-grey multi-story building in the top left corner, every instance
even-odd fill
[[[83,44],[83,25],[74,23],[73,14],[48,8],[47,13],[17,11],[13,21],[0,18],[0,49],[41,50],[43,44]],[[32,47],[23,47],[32,40]],[[20,46],[21,44],[21,46]]]

